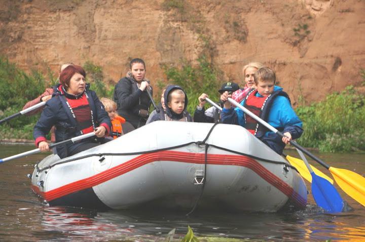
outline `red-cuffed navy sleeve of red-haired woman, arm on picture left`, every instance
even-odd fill
[[[53,110],[54,107],[50,106],[49,102],[47,102],[40,119],[34,126],[33,138],[35,140],[35,146],[37,147],[39,142],[46,141],[46,135],[49,133],[52,126],[56,124],[57,114]]]

